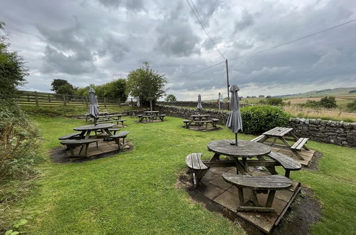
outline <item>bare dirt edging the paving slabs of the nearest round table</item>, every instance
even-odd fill
[[[179,174],[176,183],[177,188],[186,190],[195,202],[203,205],[209,211],[222,214],[231,221],[234,221],[235,224],[239,224],[246,231],[246,234],[265,234],[263,231],[253,226],[253,224],[241,219],[233,211],[221,207],[221,205],[216,202],[204,197],[204,195],[201,194],[201,192],[204,191],[204,184],[199,182],[198,187],[194,188],[194,185],[192,184],[193,179],[189,173],[189,170],[187,170],[187,172]],[[315,199],[314,194],[310,189],[302,187],[300,194],[298,194],[293,203],[290,204],[286,214],[270,234],[308,234],[309,226],[318,221],[320,216],[320,203]]]

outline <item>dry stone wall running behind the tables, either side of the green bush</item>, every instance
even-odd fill
[[[204,107],[204,106],[203,106]],[[156,105],[160,113],[172,117],[189,119],[197,114],[197,110],[176,106]],[[219,119],[220,125],[225,125],[229,112],[226,110],[205,109],[201,114],[209,114],[211,118]],[[356,147],[356,122],[336,122],[332,120],[291,118],[288,124],[293,127],[298,137],[308,137],[316,142],[325,142],[347,147]]]

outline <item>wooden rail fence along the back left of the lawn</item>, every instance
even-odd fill
[[[19,90],[16,96],[16,102],[20,105],[36,105],[36,106],[75,106],[87,107],[89,105],[88,96],[78,95],[62,95],[56,93],[41,93],[37,91]],[[122,105],[137,106],[136,100],[129,99],[122,102],[120,99],[99,98],[98,104],[103,108],[116,108]]]

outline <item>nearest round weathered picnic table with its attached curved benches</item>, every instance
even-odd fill
[[[214,152],[214,156],[209,161],[201,161],[201,153],[193,153],[186,158],[187,166],[194,169],[194,177],[197,175],[200,179],[210,167],[236,167],[237,174],[223,173],[223,179],[229,184],[233,184],[239,190],[239,211],[260,211],[275,213],[272,208],[273,199],[276,190],[286,189],[291,186],[292,181],[288,179],[289,170],[301,169],[298,162],[294,162],[289,157],[271,152],[271,147],[260,142],[250,142],[239,140],[238,145],[231,145],[234,140],[215,140],[208,143],[208,150]],[[227,160],[220,160],[220,156],[224,155]],[[264,157],[270,157],[271,160],[266,160]],[[256,157],[257,160],[252,160]],[[288,174],[286,177],[278,175],[275,166],[281,165]],[[268,176],[252,176],[249,167],[264,166],[271,172]],[[194,184],[196,179],[194,178]],[[253,206],[248,206],[244,201],[244,190],[250,189],[251,201]],[[268,193],[266,205],[261,205],[258,202],[257,194]]]

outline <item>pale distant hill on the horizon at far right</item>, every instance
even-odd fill
[[[293,95],[278,95],[281,98],[308,98],[308,97],[322,97],[325,95],[356,95],[356,88],[334,88],[325,90],[313,90],[306,93],[299,93]]]

